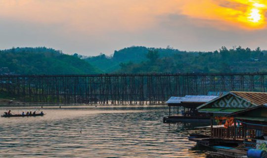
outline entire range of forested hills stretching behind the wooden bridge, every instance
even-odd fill
[[[68,75],[99,73],[221,73],[267,72],[267,53],[259,47],[222,47],[213,52],[133,46],[82,57],[66,55],[51,48],[0,50],[0,74]]]

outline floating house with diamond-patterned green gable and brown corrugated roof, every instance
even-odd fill
[[[265,108],[262,105],[266,103],[267,93],[235,91],[204,103],[197,107],[197,110],[199,113],[211,116],[210,136],[209,138],[194,136],[189,140],[206,146],[215,144],[235,146],[243,144],[246,139],[256,138],[262,133],[254,125],[259,123],[258,119],[266,119],[267,113],[259,111],[261,108]],[[254,110],[253,114],[248,114],[252,110]],[[245,120],[247,123],[244,123]]]

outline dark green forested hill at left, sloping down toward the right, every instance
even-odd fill
[[[12,48],[0,50],[0,74],[97,74],[98,69],[77,55],[51,48]]]

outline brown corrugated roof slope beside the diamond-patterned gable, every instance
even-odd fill
[[[267,93],[263,92],[230,92],[236,96],[239,96],[251,103],[262,105],[267,103]]]

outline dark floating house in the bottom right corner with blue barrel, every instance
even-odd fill
[[[222,156],[227,158],[267,158],[267,105],[256,106],[225,115],[234,119],[233,140],[239,139],[238,132],[244,133],[243,145],[238,149],[213,146],[216,152],[208,152],[210,157]],[[239,127],[241,128],[239,128]],[[241,129],[241,130],[240,130]],[[229,132],[231,132],[229,130]],[[255,157],[255,156],[258,157]]]

